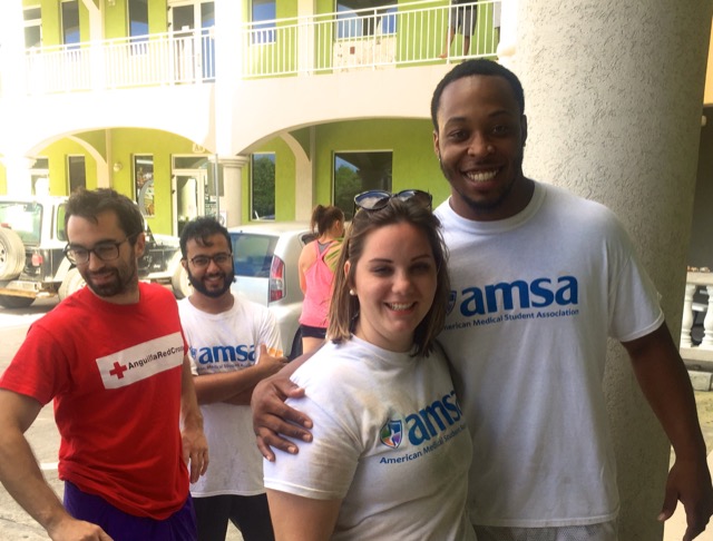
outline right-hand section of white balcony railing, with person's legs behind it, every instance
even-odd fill
[[[450,7],[437,6],[433,0],[247,23],[243,30],[243,78],[494,57],[500,0],[481,0],[461,9],[476,21],[466,52],[462,46],[451,48],[448,43]]]

